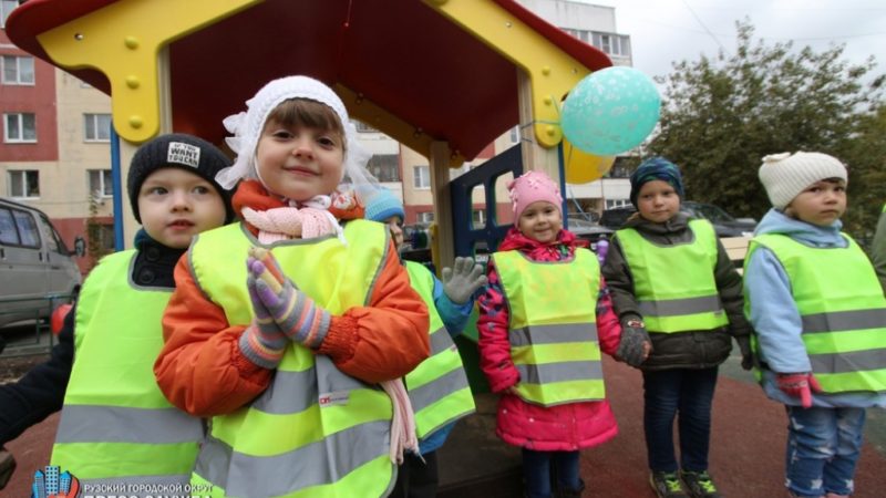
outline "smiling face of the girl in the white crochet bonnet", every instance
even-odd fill
[[[274,194],[297,201],[336,190],[344,167],[339,134],[275,120],[265,124],[256,151],[258,175]]]

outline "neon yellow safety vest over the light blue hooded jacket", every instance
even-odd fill
[[[765,247],[791,280],[803,321],[803,343],[825,393],[886,392],[886,298],[855,240],[846,248],[812,248],[787,236],[751,240]]]

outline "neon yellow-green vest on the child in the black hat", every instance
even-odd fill
[[[124,279],[135,255],[103,258],[80,293],[75,361],[51,463],[82,485],[184,486],[203,423],[172,406],[157,387],[154,361],[172,289],[138,288]],[[152,494],[125,489],[126,496]]]

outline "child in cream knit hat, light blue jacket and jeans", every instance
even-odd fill
[[[865,408],[886,406],[886,299],[845,234],[846,167],[826,154],[763,158],[773,208],[745,257],[761,384],[787,411],[791,496],[853,494]]]

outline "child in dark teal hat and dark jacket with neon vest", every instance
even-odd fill
[[[622,328],[651,340],[643,375],[643,429],[650,485],[660,497],[719,497],[708,474],[718,365],[735,338],[750,369],[750,326],[741,277],[713,227],[680,211],[674,164],[655,157],[630,177],[638,212],[610,240],[602,274]],[[673,453],[679,417],[680,474]],[[680,479],[682,478],[682,484]]]

